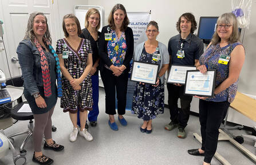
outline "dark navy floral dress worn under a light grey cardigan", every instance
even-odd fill
[[[153,54],[159,53],[159,50],[156,50]],[[147,53],[144,45],[139,61],[160,65],[161,59],[154,61],[153,54]],[[154,87],[152,84],[137,82],[132,100],[132,114],[137,114],[140,119],[150,120],[163,113],[164,83],[160,81],[159,86]]]

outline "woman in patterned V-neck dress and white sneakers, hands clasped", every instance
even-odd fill
[[[69,112],[73,124],[73,131],[69,135],[71,142],[76,141],[77,134],[86,140],[93,137],[85,129],[87,111],[92,110],[92,48],[88,39],[78,37],[81,27],[74,14],[66,14],[63,18],[62,28],[65,38],[58,39],[56,53],[60,58],[62,73],[61,108]],[[81,127],[77,126],[77,111],[80,112]]]

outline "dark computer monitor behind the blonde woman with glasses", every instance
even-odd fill
[[[212,35],[216,30],[216,23],[219,17],[200,17],[198,26],[198,37],[203,43],[210,43]]]

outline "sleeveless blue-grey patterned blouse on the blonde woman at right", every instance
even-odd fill
[[[220,83],[225,81],[229,77],[229,63],[227,65],[218,63],[220,55],[229,55],[235,49],[236,46],[242,45],[240,42],[230,43],[227,46],[220,47],[219,43],[217,45],[211,45],[206,51],[201,55],[199,62],[200,65],[205,65],[207,69],[216,70],[215,78],[215,88],[219,86]],[[231,84],[226,90],[219,92],[219,94],[207,98],[206,100],[212,102],[233,102],[235,95],[237,94],[237,84],[238,81]]]

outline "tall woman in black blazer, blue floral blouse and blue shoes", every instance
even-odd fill
[[[108,124],[117,131],[115,123],[116,96],[118,119],[122,126],[127,126],[124,119],[128,84],[129,63],[133,55],[133,33],[128,27],[129,19],[123,5],[116,4],[108,17],[108,26],[101,30],[100,75],[105,89],[105,112],[109,115]]]

